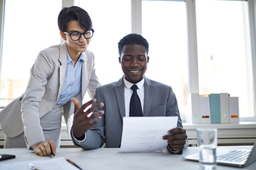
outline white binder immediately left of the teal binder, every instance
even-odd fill
[[[200,96],[200,112],[201,112],[201,123],[210,124],[210,101],[208,96]]]

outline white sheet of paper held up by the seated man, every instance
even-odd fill
[[[167,140],[163,135],[177,126],[177,116],[124,117],[119,152],[163,151]]]

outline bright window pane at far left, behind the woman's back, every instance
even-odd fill
[[[0,106],[25,91],[37,54],[61,43],[60,10],[61,0],[5,1]]]

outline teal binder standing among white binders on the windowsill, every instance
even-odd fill
[[[221,123],[220,94],[210,94],[209,100],[210,100],[211,123]]]

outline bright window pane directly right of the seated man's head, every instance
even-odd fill
[[[145,76],[173,88],[182,116],[189,98],[186,21],[185,2],[142,2],[142,35],[150,45]]]

